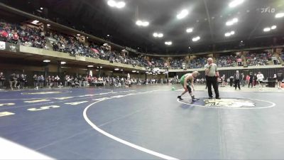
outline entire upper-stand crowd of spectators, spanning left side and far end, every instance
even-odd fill
[[[18,43],[23,46],[55,50],[63,53],[69,53],[72,56],[82,55],[90,58],[109,60],[111,63],[124,63],[133,66],[148,68],[165,68],[165,61],[162,58],[151,58],[146,60],[142,55],[131,55],[126,50],[111,50],[107,43],[102,46],[89,42],[88,45],[80,40],[78,36],[70,36],[65,33],[49,30],[43,31],[43,28],[23,24],[12,24],[0,20],[0,41],[9,43]],[[216,58],[219,67],[234,67],[239,57],[237,55],[222,55]],[[281,54],[284,60],[284,54]],[[271,59],[271,53],[248,53],[246,54],[246,63],[248,65],[268,65]],[[203,68],[207,63],[207,58],[198,57],[190,60],[187,68]],[[170,67],[173,69],[182,69],[186,65],[184,58],[170,59]]]

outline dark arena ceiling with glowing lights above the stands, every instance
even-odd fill
[[[229,7],[232,0],[120,1],[126,4],[122,9],[109,6],[107,0],[2,2],[31,14],[39,14],[37,10],[43,7],[45,16],[52,21],[141,53],[197,53],[284,44],[284,17],[275,18],[275,14],[284,12],[283,0],[244,0],[232,8]],[[182,9],[187,9],[188,15],[178,19],[177,14]],[[226,26],[226,21],[234,18],[238,21]],[[148,21],[149,25],[137,26],[137,20]],[[276,28],[263,31],[263,28],[271,26]],[[193,28],[192,33],[187,33],[187,28]],[[231,31],[234,35],[224,36]],[[153,37],[154,32],[163,33],[163,38]],[[192,41],[196,36],[200,36],[200,40]],[[173,44],[167,46],[165,41]]]

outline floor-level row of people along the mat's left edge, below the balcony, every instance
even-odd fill
[[[94,87],[94,86],[113,86],[113,87],[129,87],[131,85],[163,85],[167,83],[164,78],[156,78],[149,76],[147,79],[143,78],[130,78],[128,76],[105,76],[96,77],[92,75],[65,75],[60,78],[58,75],[48,75],[46,78],[43,75],[33,75],[32,81],[28,82],[27,75],[13,73],[9,76],[0,73],[0,90],[10,88],[13,90],[24,89],[32,87],[35,90],[44,87]],[[170,79],[169,82],[175,82]]]

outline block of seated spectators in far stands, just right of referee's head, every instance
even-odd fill
[[[237,55],[222,55],[216,58],[216,64],[218,67],[234,67],[238,58]]]

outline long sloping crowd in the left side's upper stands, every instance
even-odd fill
[[[70,53],[70,55],[82,55],[90,58],[98,58],[102,60],[109,60],[111,63],[124,63],[133,66],[149,66],[152,63],[157,66],[163,66],[161,60],[147,62],[141,55],[129,56],[125,52],[118,52],[111,50],[107,44],[99,46],[90,43],[88,46],[84,45],[76,36],[65,35],[56,31],[44,32],[42,28],[31,26],[7,23],[0,21],[0,41],[9,43],[18,43],[23,46],[44,48],[55,50],[63,53]]]

